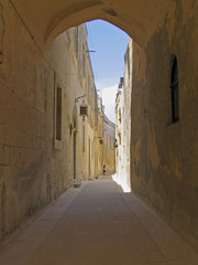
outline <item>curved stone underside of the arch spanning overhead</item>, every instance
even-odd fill
[[[167,0],[12,0],[30,32],[45,50],[65,30],[103,19],[145,46],[165,19]]]

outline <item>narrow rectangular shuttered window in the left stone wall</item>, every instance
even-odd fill
[[[62,140],[62,88],[56,88],[56,140]]]

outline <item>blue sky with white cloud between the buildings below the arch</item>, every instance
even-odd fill
[[[124,53],[129,36],[119,28],[103,21],[87,22],[88,45],[97,89],[102,93],[106,115],[114,121],[114,99],[118,83],[124,73]]]

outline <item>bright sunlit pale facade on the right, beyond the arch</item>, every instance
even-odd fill
[[[132,40],[124,56],[124,78],[116,99],[117,176],[114,180],[125,192],[131,191],[131,91]]]

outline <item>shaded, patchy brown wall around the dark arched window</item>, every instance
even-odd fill
[[[132,189],[198,246],[198,47],[196,1],[170,1],[145,49],[133,43]],[[179,120],[170,72],[178,63]]]

